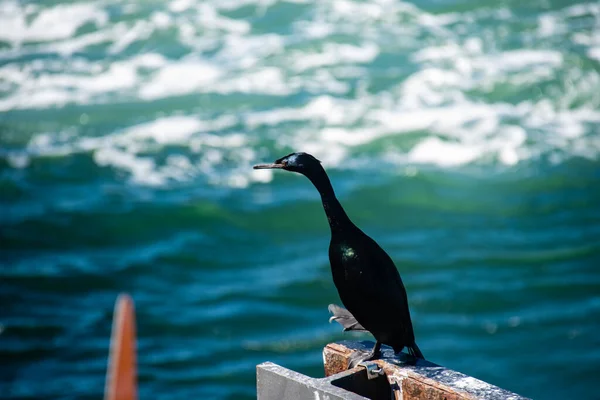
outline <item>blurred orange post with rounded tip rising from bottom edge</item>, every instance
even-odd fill
[[[135,309],[121,294],[115,304],[104,400],[137,400]]]

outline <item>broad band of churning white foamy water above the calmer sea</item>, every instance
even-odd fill
[[[86,153],[137,185],[202,176],[234,188],[270,181],[251,164],[293,150],[350,169],[353,157],[441,168],[598,158],[596,5],[542,12],[523,31],[508,9],[388,6],[294,2],[310,12],[278,30],[232,17],[233,3],[134,3],[118,18],[108,4],[3,2],[0,110],[12,121],[68,110],[79,124],[34,127],[0,157],[27,169]],[[90,135],[90,107],[130,104],[166,109]]]

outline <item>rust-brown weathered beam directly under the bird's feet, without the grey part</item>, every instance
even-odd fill
[[[331,343],[323,349],[325,374],[333,375],[345,371],[351,355],[356,351],[368,352],[373,347],[369,342],[343,341]],[[396,399],[403,400],[524,400],[518,394],[501,389],[479,379],[461,374],[429,361],[413,359],[404,353],[394,354],[384,346],[383,357],[375,360],[387,376]]]

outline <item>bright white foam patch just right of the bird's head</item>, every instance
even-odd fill
[[[470,111],[473,110],[473,113]],[[526,140],[523,128],[499,126],[499,115],[510,114],[510,106],[493,107],[465,104],[419,112],[378,110],[367,115],[378,122],[370,128],[327,127],[317,134],[297,133],[296,143],[328,159],[333,166],[343,162],[347,149],[372,143],[384,136],[429,130],[440,136],[419,141],[405,156],[392,157],[399,164],[436,164],[456,167],[483,156],[493,156],[506,165],[514,165],[524,156],[519,149]],[[446,137],[442,140],[441,137]],[[327,154],[334,156],[328,158]]]

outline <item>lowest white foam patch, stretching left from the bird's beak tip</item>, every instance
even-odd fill
[[[79,137],[77,132],[39,134],[30,140],[28,152],[11,155],[11,162],[14,167],[26,168],[31,157],[91,153],[98,166],[121,170],[132,183],[146,186],[163,186],[198,176],[212,184],[232,187],[270,180],[270,176],[252,173],[256,153],[247,147],[246,135],[213,133],[236,123],[232,116],[214,120],[171,116],[101,137]],[[173,145],[189,150],[171,154],[164,163],[158,163],[153,154]],[[228,170],[230,159],[236,160],[237,169]]]

